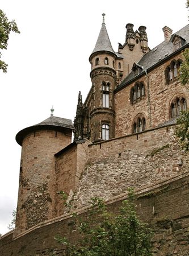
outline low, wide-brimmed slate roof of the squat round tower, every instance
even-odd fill
[[[61,118],[61,117],[54,117],[51,116],[47,119],[45,119],[43,122],[37,123],[37,125],[33,125],[27,128],[24,128],[23,130],[19,131],[18,134],[16,134],[16,142],[22,146],[22,142],[24,137],[28,133],[32,133],[33,131],[41,130],[41,129],[54,129],[62,131],[63,129],[72,129],[74,130],[74,126],[72,123],[72,120]]]

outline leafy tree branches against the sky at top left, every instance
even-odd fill
[[[7,49],[9,34],[11,31],[20,33],[15,20],[12,20],[10,22],[5,13],[0,10],[0,49]],[[7,72],[7,65],[8,64],[6,64],[4,61],[0,60],[0,69],[2,69],[3,72]]]

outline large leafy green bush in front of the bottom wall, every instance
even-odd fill
[[[55,239],[65,247],[64,255],[82,256],[150,256],[152,255],[152,230],[136,214],[135,195],[129,190],[119,213],[108,212],[103,200],[95,197],[92,210],[85,219],[73,214],[74,229],[81,240],[73,245],[65,237]]]

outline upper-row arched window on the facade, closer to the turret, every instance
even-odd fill
[[[131,88],[130,100],[131,104],[135,104],[145,96],[145,86],[143,82],[136,82],[135,86]]]

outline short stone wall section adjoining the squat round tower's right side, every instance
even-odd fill
[[[68,195],[67,203],[72,204],[75,189],[85,167],[88,156],[89,141],[72,143],[72,147],[56,157],[56,203],[54,216],[64,213],[65,200],[57,192],[64,191]],[[69,205],[68,205],[69,208]]]

